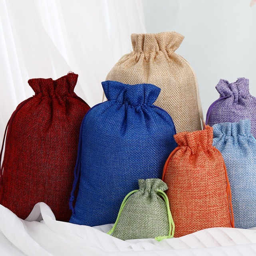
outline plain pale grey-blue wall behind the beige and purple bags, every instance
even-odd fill
[[[219,79],[250,80],[256,96],[256,5],[250,0],[142,0],[147,33],[185,36],[177,54],[196,72],[204,117]]]

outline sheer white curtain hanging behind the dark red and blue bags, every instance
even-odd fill
[[[0,0],[0,140],[10,115],[34,92],[30,78],[79,75],[75,92],[93,106],[101,81],[145,33],[140,0]]]

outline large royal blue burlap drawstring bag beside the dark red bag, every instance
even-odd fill
[[[153,105],[160,88],[117,81],[102,86],[108,101],[92,107],[83,119],[69,201],[70,222],[88,226],[114,223],[123,198],[139,189],[139,179],[161,179],[176,147],[171,116]]]

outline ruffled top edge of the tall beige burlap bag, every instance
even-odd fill
[[[175,51],[179,48],[184,36],[177,32],[161,32],[157,34],[131,34],[133,51],[150,53],[159,51]]]

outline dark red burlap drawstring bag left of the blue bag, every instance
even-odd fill
[[[37,202],[48,204],[57,220],[71,216],[79,129],[89,110],[74,93],[77,77],[68,73],[57,80],[28,80],[35,95],[20,103],[8,122],[0,203],[20,218]]]

